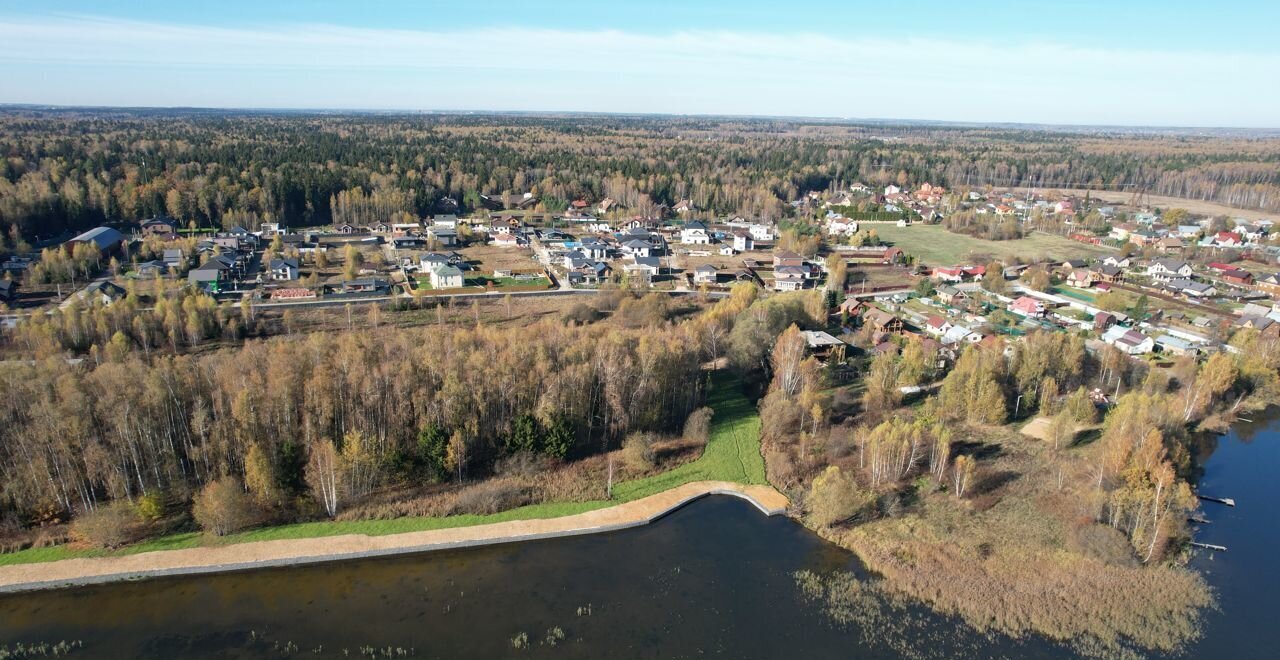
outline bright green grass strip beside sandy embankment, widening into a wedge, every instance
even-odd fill
[[[712,380],[712,390],[707,404],[716,411],[716,414],[712,417],[712,434],[703,455],[669,472],[620,482],[613,486],[612,500],[532,504],[489,515],[394,518],[389,521],[320,521],[282,524],[250,530],[216,540],[210,540],[201,533],[188,532],[152,538],[116,551],[73,550],[64,546],[33,547],[18,553],[0,554],[0,565],[55,562],[83,556],[127,555],[154,550],[178,550],[197,547],[207,542],[223,545],[279,538],[312,538],[344,533],[380,536],[451,527],[471,527],[506,521],[559,518],[562,515],[572,515],[637,500],[692,481],[767,483],[764,478],[764,458],[760,454],[760,417],[751,402],[740,391],[737,381],[724,372],[717,372]]]

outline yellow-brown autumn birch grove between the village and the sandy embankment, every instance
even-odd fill
[[[678,430],[701,400],[684,329],[358,330],[201,356],[106,350],[0,368],[0,483],[28,519],[182,494],[264,462],[283,491],[343,452],[343,500],[489,473],[502,455],[596,452]],[[310,476],[314,476],[311,473]],[[333,514],[335,512],[330,512]]]

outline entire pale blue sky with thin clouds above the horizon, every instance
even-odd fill
[[[1277,128],[1276,26],[1275,0],[0,0],[0,104]]]

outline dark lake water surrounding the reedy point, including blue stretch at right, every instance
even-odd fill
[[[1192,657],[1277,656],[1277,417],[1203,448],[1202,492],[1239,507],[1206,505],[1213,522],[1198,538],[1230,551],[1196,560],[1221,610]],[[76,640],[73,657],[106,659],[360,657],[362,646],[451,659],[1074,655],[919,608],[887,628],[838,625],[801,597],[800,569],[861,572],[794,522],[719,496],[609,535],[4,596],[0,645]],[[550,646],[556,627],[564,640]],[[521,632],[530,645],[516,650]]]

